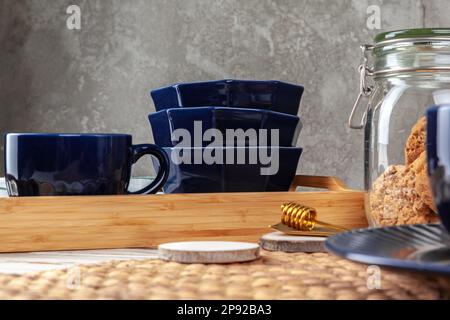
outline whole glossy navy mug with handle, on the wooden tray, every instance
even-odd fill
[[[129,192],[131,166],[144,155],[160,164],[156,178]],[[156,193],[166,182],[169,160],[160,147],[132,145],[128,134],[9,133],[5,179],[10,196]]]

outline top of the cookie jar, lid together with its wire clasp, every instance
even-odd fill
[[[374,44],[362,45],[359,66],[359,95],[348,125],[362,129],[366,122],[368,100],[374,93],[370,79],[421,79],[427,83],[450,82],[450,28],[405,29],[380,33]],[[430,81],[431,80],[431,81]],[[366,105],[362,119],[354,122],[358,106]]]

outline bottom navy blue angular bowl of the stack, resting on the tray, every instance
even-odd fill
[[[163,148],[170,162],[170,173],[163,190],[165,193],[288,191],[297,171],[302,148],[279,147],[276,148],[278,156],[267,149],[272,148]],[[232,151],[233,155],[229,156],[227,151]],[[264,161],[251,161],[250,158],[259,152],[269,157]],[[224,161],[220,161],[221,153]],[[240,162],[239,154],[245,156],[246,161]],[[211,163],[209,159],[208,162],[208,155],[219,160]],[[185,161],[180,161],[181,158]],[[270,159],[270,163],[267,159]],[[157,167],[157,163],[154,165]],[[263,170],[266,170],[264,174]]]

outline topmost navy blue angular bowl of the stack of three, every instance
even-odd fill
[[[268,109],[297,115],[303,86],[281,81],[218,80],[180,83],[151,91],[156,111],[221,106]]]

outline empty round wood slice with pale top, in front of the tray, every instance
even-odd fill
[[[233,263],[259,258],[259,245],[247,242],[189,241],[158,246],[163,260],[181,263]]]

